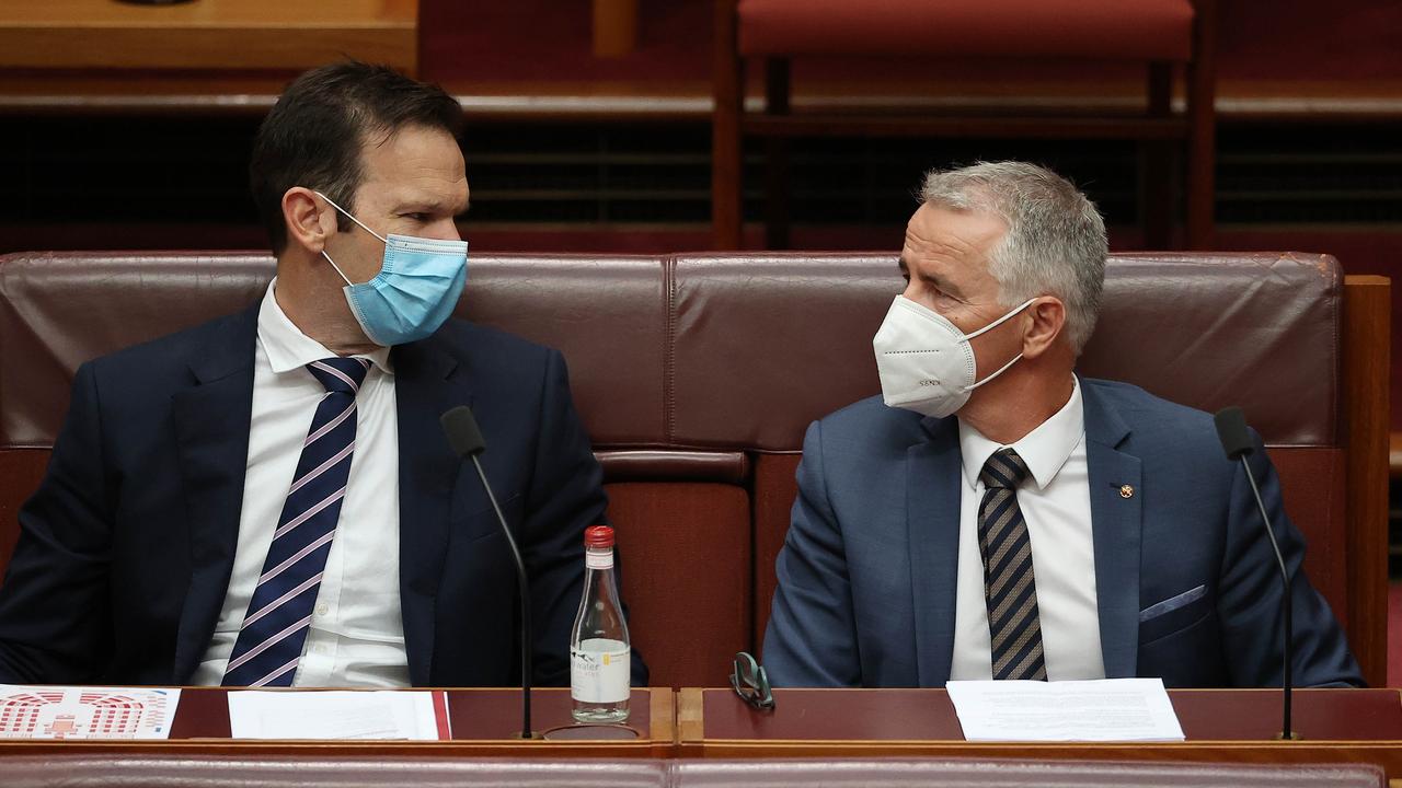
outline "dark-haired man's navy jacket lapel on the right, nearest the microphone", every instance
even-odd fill
[[[472,393],[457,360],[435,339],[394,349],[400,430],[400,604],[409,680],[430,683],[433,631],[449,513],[463,463],[449,449],[439,416],[471,405]]]

